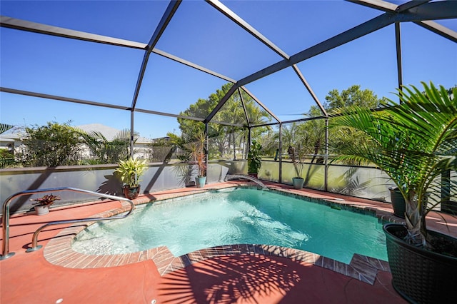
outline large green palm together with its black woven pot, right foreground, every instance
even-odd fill
[[[457,282],[457,239],[426,228],[426,215],[441,203],[440,176],[457,169],[457,89],[423,84],[403,87],[401,103],[384,101],[383,111],[349,108],[331,127],[362,131],[371,141],[348,147],[336,160],[374,163],[396,184],[405,202],[406,224],[388,223],[392,285],[414,303],[451,303]],[[446,181],[453,186],[456,181]]]

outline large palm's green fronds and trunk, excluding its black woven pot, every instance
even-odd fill
[[[428,248],[426,215],[440,203],[437,178],[457,169],[457,88],[449,94],[443,86],[422,84],[423,92],[415,86],[398,90],[401,103],[383,101],[383,111],[340,111],[331,128],[347,127],[338,130],[343,136],[351,129],[367,136],[368,142],[346,147],[333,161],[373,163],[386,172],[406,201],[406,240]]]

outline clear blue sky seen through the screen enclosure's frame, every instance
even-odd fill
[[[288,55],[368,21],[381,11],[347,1],[222,1]],[[148,43],[168,1],[1,1],[1,15]],[[457,21],[439,21],[457,31]],[[457,84],[457,46],[416,24],[402,24],[403,83]],[[130,106],[143,51],[0,29],[1,86]],[[281,57],[204,1],[184,1],[156,46],[235,80]],[[394,98],[393,26],[298,64],[319,100],[353,84]],[[138,108],[178,114],[226,81],[151,55]],[[291,69],[246,85],[283,120],[301,117],[313,100]],[[0,93],[2,123],[73,121],[130,128],[129,111]],[[179,132],[176,118],[136,113],[135,129],[156,138]]]

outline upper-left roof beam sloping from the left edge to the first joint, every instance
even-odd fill
[[[14,19],[8,16],[0,16],[0,26],[9,29],[18,29],[21,31],[31,31],[34,33],[59,36],[64,38],[97,42],[99,44],[111,44],[113,46],[125,46],[133,49],[144,50],[147,44],[140,42],[129,41],[124,39],[117,39],[109,36],[102,36],[96,34],[86,33],[84,31],[74,31],[71,29],[64,29],[57,26],[49,26],[46,24],[39,24],[36,22]]]

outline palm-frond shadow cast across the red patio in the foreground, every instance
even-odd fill
[[[390,273],[374,285],[266,255],[218,256],[164,275],[157,303],[405,303]]]

